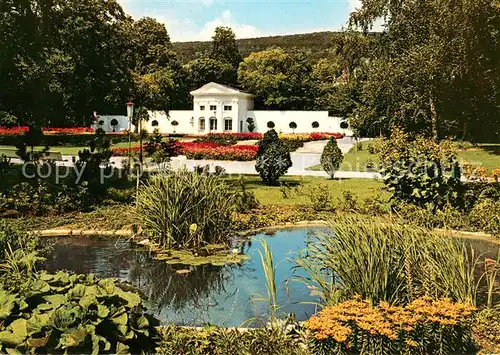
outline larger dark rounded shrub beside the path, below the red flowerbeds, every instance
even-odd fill
[[[259,142],[255,164],[261,179],[267,185],[276,185],[279,178],[285,175],[291,166],[292,158],[288,148],[279,140],[276,131],[267,132],[264,139]]]

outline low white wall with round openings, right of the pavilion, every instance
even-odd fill
[[[342,118],[329,117],[328,111],[248,111],[248,117],[255,120],[255,132],[265,133],[268,131],[267,123],[274,122],[274,129],[283,133],[311,133],[311,132],[330,132],[345,133],[349,135],[349,130],[344,131],[340,128]],[[292,130],[290,122],[295,122],[297,128]],[[312,128],[312,123],[318,122],[318,128]],[[244,125],[245,132],[248,132],[248,125]]]

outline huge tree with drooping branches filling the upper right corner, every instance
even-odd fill
[[[367,29],[386,18],[379,58],[369,63],[356,127],[388,135],[492,139],[500,133],[500,8],[491,0],[366,0],[351,16]]]

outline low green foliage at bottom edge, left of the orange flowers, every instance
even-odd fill
[[[206,327],[190,329],[177,326],[160,327],[159,354],[309,354],[303,341],[278,327],[238,330]]]

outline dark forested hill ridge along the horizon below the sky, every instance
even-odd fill
[[[311,51],[314,57],[321,57],[331,45],[334,32],[314,32],[286,36],[271,36],[260,38],[245,38],[237,40],[238,48],[243,58],[252,52],[258,52],[267,48],[278,46],[283,49],[304,49]],[[176,42],[173,43],[175,51],[184,63],[196,58],[197,53],[203,53],[210,49],[211,41],[208,42]]]

